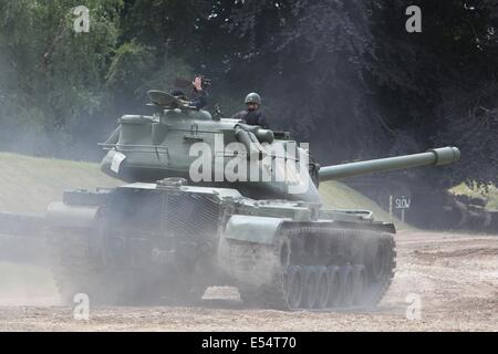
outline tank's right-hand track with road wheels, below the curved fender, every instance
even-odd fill
[[[231,247],[236,256],[231,258],[232,267],[239,274],[253,272],[255,261],[263,259],[257,256],[261,246]],[[396,266],[393,236],[371,230],[292,226],[279,235],[271,251],[273,266],[274,260],[280,260],[279,267],[262,266],[273,269],[271,280],[239,283],[241,298],[251,306],[312,311],[372,309],[390,288]]]

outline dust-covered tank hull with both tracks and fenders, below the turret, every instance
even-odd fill
[[[176,179],[66,192],[44,220],[68,302],[195,304],[206,288],[232,285],[258,308],[371,308],[395,268],[394,227],[367,212]]]

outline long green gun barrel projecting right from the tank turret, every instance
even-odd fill
[[[456,163],[459,158],[460,150],[457,147],[442,147],[422,154],[322,167],[320,169],[320,180],[325,181],[419,166],[443,166]]]

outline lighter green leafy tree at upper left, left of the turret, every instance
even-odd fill
[[[7,103],[0,108],[3,147],[74,156],[71,146],[96,122],[122,2],[86,1],[90,33],[73,30],[72,9],[79,4],[65,0],[0,1],[4,75],[0,91]]]

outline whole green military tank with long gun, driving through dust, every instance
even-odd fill
[[[148,95],[154,114],[120,118],[101,144],[102,170],[125,185],[66,191],[43,217],[0,215],[0,232],[48,239],[68,301],[186,304],[232,285],[258,308],[375,306],[394,275],[395,227],[323,208],[319,181],[459,158],[445,147],[321,167],[288,133]]]

